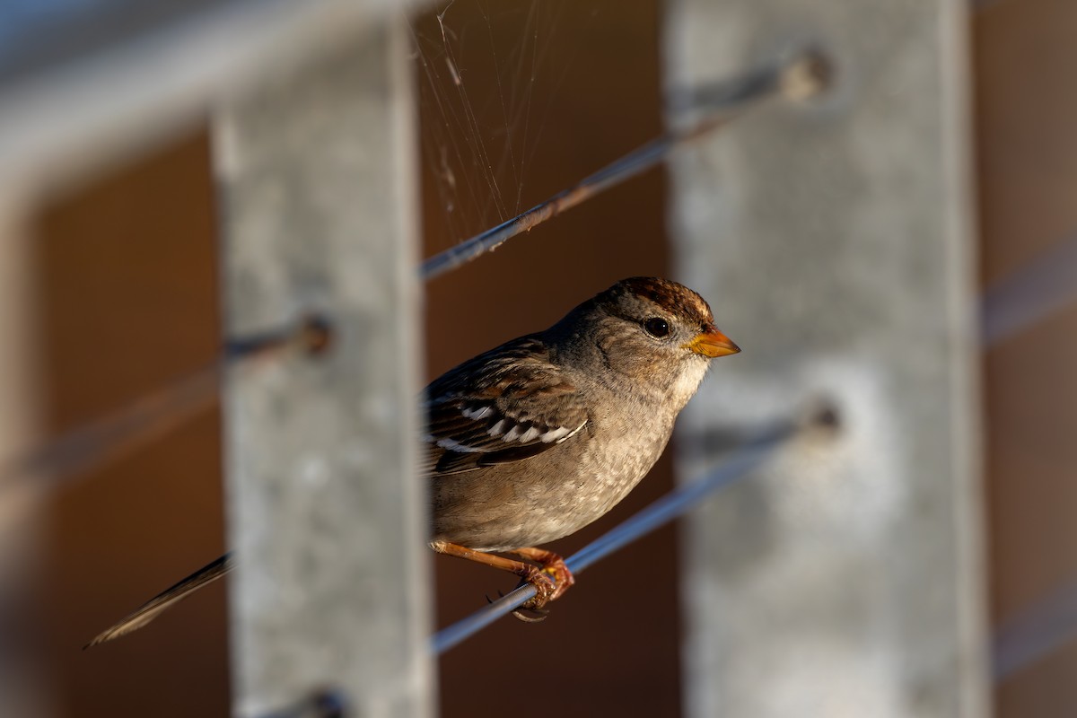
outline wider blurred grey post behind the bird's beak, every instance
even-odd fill
[[[814,41],[837,85],[673,163],[679,279],[743,353],[683,436],[836,406],[687,522],[689,715],[988,715],[964,3],[680,0],[671,87]],[[673,117],[683,122],[689,116]],[[700,466],[682,441],[682,469]]]

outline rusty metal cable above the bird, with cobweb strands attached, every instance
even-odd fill
[[[655,167],[674,149],[725,126],[765,100],[814,95],[826,84],[828,66],[823,58],[817,53],[805,52],[792,61],[761,66],[733,80],[686,94],[679,104],[707,111],[702,119],[687,129],[666,132],[512,220],[435,254],[422,263],[422,278],[440,277],[492,252],[513,237]]]

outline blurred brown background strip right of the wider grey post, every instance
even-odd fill
[[[984,286],[1077,237],[1077,3],[998,0],[973,22]],[[1077,282],[1077,277],[1073,278]],[[985,354],[992,618],[1077,577],[1077,305]],[[999,718],[1077,715],[1077,643],[1005,680]]]

